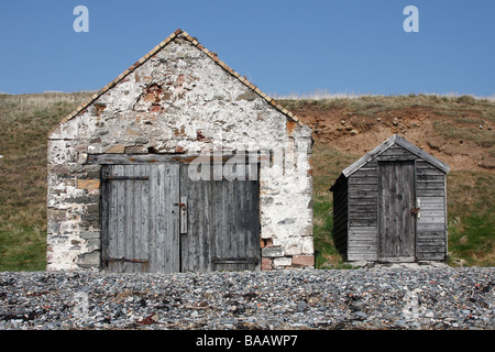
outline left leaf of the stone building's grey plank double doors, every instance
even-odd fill
[[[102,266],[109,272],[178,272],[179,167],[103,165]]]

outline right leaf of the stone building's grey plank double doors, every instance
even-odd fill
[[[182,270],[256,271],[261,267],[260,183],[191,180],[182,166],[180,196],[187,199]]]

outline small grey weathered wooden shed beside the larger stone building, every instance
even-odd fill
[[[333,240],[343,258],[444,261],[448,173],[397,134],[346,167],[330,188]]]

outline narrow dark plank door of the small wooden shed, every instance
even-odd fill
[[[415,163],[378,162],[378,261],[414,262]]]

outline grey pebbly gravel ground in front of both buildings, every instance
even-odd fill
[[[495,329],[495,267],[0,273],[0,329]]]

